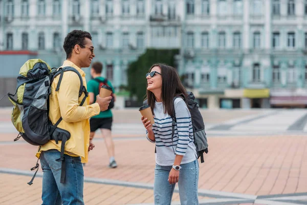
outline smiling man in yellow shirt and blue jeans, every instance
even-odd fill
[[[90,67],[95,57],[92,36],[89,32],[74,30],[64,40],[63,48],[67,55],[63,67],[73,67],[81,75],[86,88],[85,73],[81,68]],[[83,202],[83,167],[87,162],[88,152],[94,148],[90,141],[89,118],[107,110],[112,97],[96,96],[96,103],[89,105],[87,97],[82,106],[80,102],[85,96],[79,97],[80,78],[77,73],[65,71],[59,90],[56,91],[60,75],[55,77],[49,98],[49,118],[54,125],[62,117],[58,128],[70,132],[70,139],[64,148],[65,182],[61,183],[60,158],[61,141],[56,144],[50,140],[40,147],[36,153],[40,157],[42,177],[42,204],[84,204]]]

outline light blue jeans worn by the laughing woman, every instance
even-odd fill
[[[180,203],[182,205],[199,204],[198,201],[198,180],[199,180],[199,164],[198,160],[180,165],[178,187]],[[167,205],[171,203],[175,185],[170,185],[168,175],[172,166],[160,166],[156,164],[155,169],[155,186],[153,187],[153,195],[155,196],[155,204]]]

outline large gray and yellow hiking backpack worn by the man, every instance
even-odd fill
[[[17,86],[15,94],[8,93],[9,99],[13,104],[11,120],[19,132],[14,141],[23,137],[29,144],[41,146],[49,140],[62,141],[61,156],[56,159],[62,161],[61,183],[65,180],[65,157],[64,147],[65,142],[70,139],[70,133],[66,130],[58,128],[58,124],[62,120],[60,117],[53,125],[49,119],[49,95],[51,94],[51,84],[53,79],[59,76],[59,82],[56,91],[59,90],[62,75],[65,71],[73,71],[80,78],[79,97],[84,93],[84,98],[80,106],[83,105],[88,93],[83,86],[83,81],[80,73],[73,67],[53,68],[51,69],[47,63],[41,59],[28,60],[19,71],[17,77]],[[15,97],[15,95],[17,95]],[[38,160],[36,166],[31,171],[38,170]],[[32,185],[33,179],[37,170],[28,183]]]

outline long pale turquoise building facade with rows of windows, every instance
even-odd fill
[[[3,68],[14,60],[3,82],[27,56],[60,66],[65,35],[81,29],[115,88],[146,48],[177,48],[178,71],[203,108],[307,105],[307,1],[2,0],[0,15]]]

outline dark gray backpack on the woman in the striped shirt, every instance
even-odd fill
[[[192,120],[192,127],[193,127],[193,134],[194,134],[194,145],[196,147],[196,152],[198,154],[198,158],[201,157],[201,162],[205,162],[204,160],[204,152],[208,153],[208,140],[207,135],[205,132],[205,124],[203,116],[199,110],[198,103],[195,102],[195,96],[192,92],[187,92],[188,98],[186,99],[184,95],[175,96],[173,98],[173,105],[174,101],[181,97],[183,100],[185,100],[188,109],[191,113],[191,120]],[[174,137],[174,131],[175,131],[175,125],[176,125],[176,114],[175,114],[175,108],[173,108],[174,113],[172,118],[172,132],[171,132],[171,141],[173,141]]]

